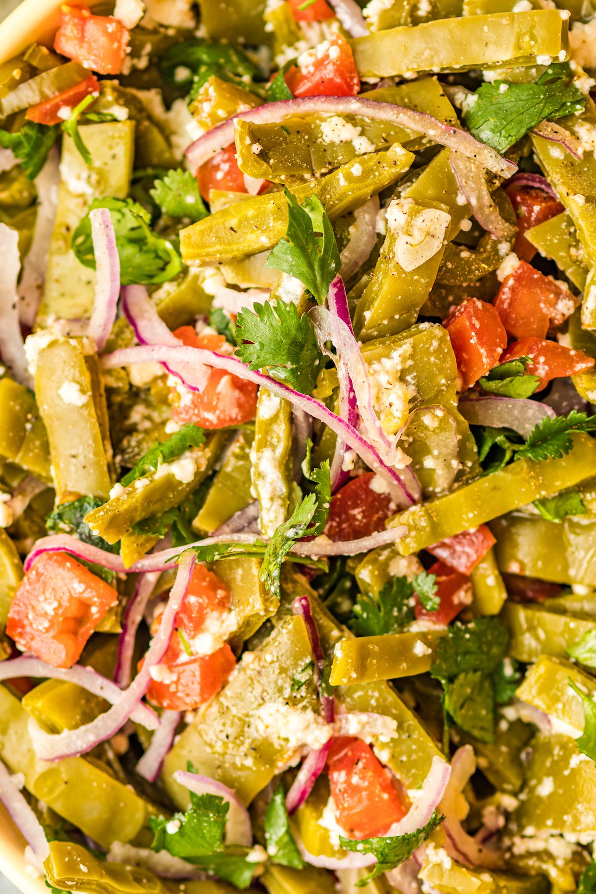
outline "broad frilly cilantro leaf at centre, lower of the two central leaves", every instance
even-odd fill
[[[267,301],[252,310],[242,308],[236,320],[241,344],[236,356],[249,369],[266,368],[278,382],[302,394],[310,394],[323,368],[323,354],[315,326],[307,314],[298,316],[295,304]]]

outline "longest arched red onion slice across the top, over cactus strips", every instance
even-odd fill
[[[403,105],[392,103],[378,103],[373,99],[364,97],[305,97],[303,99],[288,99],[276,103],[267,103],[248,112],[239,112],[232,115],[227,121],[218,124],[199,137],[186,150],[187,157],[193,168],[200,167],[221,149],[230,146],[234,141],[234,121],[250,122],[251,124],[274,124],[285,118],[303,117],[312,114],[354,114],[373,121],[392,122],[407,128],[410,131],[422,133],[435,143],[456,149],[466,156],[474,158],[479,164],[483,164],[489,171],[500,174],[501,177],[511,177],[516,173],[516,165],[507,158],[499,156],[498,152],[474,139],[472,134],[453,127],[433,118],[424,112],[415,112]]]

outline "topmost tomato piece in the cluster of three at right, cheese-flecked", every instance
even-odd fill
[[[545,338],[551,326],[573,314],[577,301],[564,283],[521,261],[503,281],[494,306],[508,335]]]

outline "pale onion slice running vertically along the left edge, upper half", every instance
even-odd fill
[[[19,321],[17,278],[21,269],[19,233],[0,223],[0,358],[17,382],[33,388]]]

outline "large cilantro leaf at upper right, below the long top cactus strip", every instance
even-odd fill
[[[545,118],[580,112],[584,103],[569,64],[553,63],[533,84],[484,82],[466,97],[463,118],[476,139],[505,152]]]

